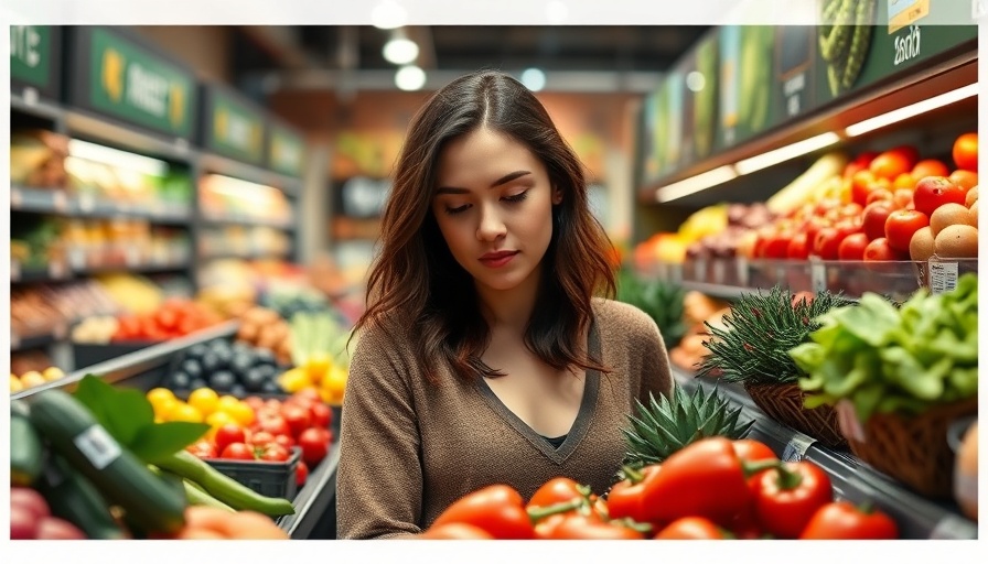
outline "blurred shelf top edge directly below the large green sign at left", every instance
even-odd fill
[[[131,151],[155,155],[178,162],[190,162],[198,152],[189,141],[168,139],[152,133],[144,133],[132,127],[118,124],[116,121],[97,117],[84,110],[72,109],[65,112],[65,123],[71,137],[99,139],[103,142]]]

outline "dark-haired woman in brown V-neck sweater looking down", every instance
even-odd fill
[[[350,366],[337,536],[415,534],[492,484],[603,494],[634,400],[672,389],[614,292],[581,164],[520,83],[483,72],[412,118]]]

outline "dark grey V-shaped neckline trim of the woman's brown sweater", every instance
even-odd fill
[[[590,322],[590,330],[587,335],[587,345],[592,358],[600,358],[600,335],[597,330],[597,322],[592,319]],[[572,454],[573,451],[577,449],[577,446],[587,435],[587,432],[590,430],[590,421],[593,414],[593,408],[597,405],[597,395],[600,390],[600,372],[598,370],[587,370],[586,377],[583,381],[583,397],[580,399],[580,409],[577,412],[577,419],[573,421],[572,427],[570,427],[569,432],[566,434],[566,441],[559,445],[559,448],[554,448],[552,445],[549,444],[548,441],[545,440],[540,434],[538,434],[534,429],[528,426],[528,423],[522,421],[522,417],[515,414],[512,410],[501,401],[501,398],[494,393],[494,390],[487,386],[487,382],[480,378],[480,382],[477,383],[477,388],[481,391],[481,397],[487,404],[498,414],[502,419],[504,419],[512,427],[515,429],[522,436],[528,440],[540,453],[543,453],[547,458],[555,462],[556,464],[562,464]]]

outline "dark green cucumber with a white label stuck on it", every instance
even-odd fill
[[[121,446],[68,393],[51,389],[28,399],[31,422],[52,448],[142,532],[172,534],[185,524],[185,496]]]

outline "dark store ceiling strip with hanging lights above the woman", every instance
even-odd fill
[[[432,25],[402,28],[419,44],[417,64],[438,74],[477,68],[657,77],[710,28],[705,25]],[[296,85],[340,73],[393,74],[384,44],[394,31],[370,25],[245,26],[235,50],[240,77],[267,74]],[[322,76],[324,80],[316,79]],[[302,80],[300,77],[305,77]]]

